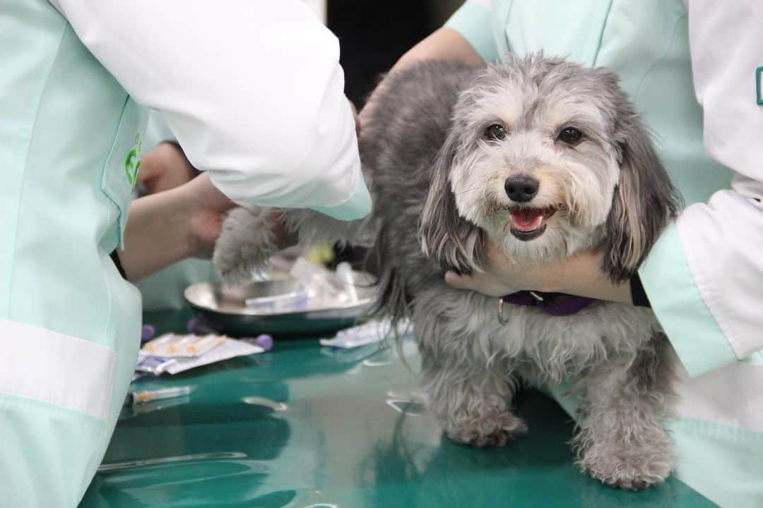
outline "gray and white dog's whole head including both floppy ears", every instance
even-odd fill
[[[542,56],[493,65],[462,92],[433,171],[423,246],[465,272],[488,235],[519,262],[602,248],[623,279],[676,209],[617,76]]]

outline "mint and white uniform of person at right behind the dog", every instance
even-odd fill
[[[446,26],[485,62],[542,50],[620,75],[687,203],[639,270],[687,371],[676,474],[723,506],[763,506],[763,8],[687,3],[472,0]]]

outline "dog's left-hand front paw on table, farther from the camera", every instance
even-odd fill
[[[445,432],[456,443],[484,448],[506,446],[526,433],[524,421],[506,411],[486,415],[456,415],[445,425]]]

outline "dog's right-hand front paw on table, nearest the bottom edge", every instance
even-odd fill
[[[637,445],[592,443],[578,465],[593,478],[612,487],[644,490],[668,478],[675,456],[667,436]]]

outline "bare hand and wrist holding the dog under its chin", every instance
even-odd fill
[[[600,270],[601,256],[595,252],[581,252],[548,264],[517,264],[488,241],[486,258],[484,271],[471,276],[448,272],[446,283],[454,289],[468,289],[496,297],[530,290],[633,303],[630,284],[612,283]]]

